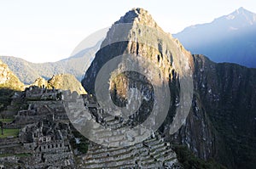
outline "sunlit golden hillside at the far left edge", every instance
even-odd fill
[[[0,60],[0,87],[13,90],[22,90],[24,88],[24,84],[9,70],[8,65],[3,64],[2,60]]]

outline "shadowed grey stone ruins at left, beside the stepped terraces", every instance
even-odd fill
[[[45,93],[55,97],[44,100]],[[10,110],[15,110],[12,105],[17,100],[28,106],[20,106],[26,109],[13,112],[14,121],[4,125],[20,128],[20,132],[17,137],[0,138],[2,168],[76,168],[70,144],[73,133],[61,100],[56,98],[59,93],[61,90],[29,87],[15,94]]]

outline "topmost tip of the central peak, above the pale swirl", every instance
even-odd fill
[[[158,27],[156,22],[153,20],[151,14],[149,14],[148,11],[143,8],[132,8],[114,24],[127,23],[137,23],[141,25],[148,25],[151,27]]]

